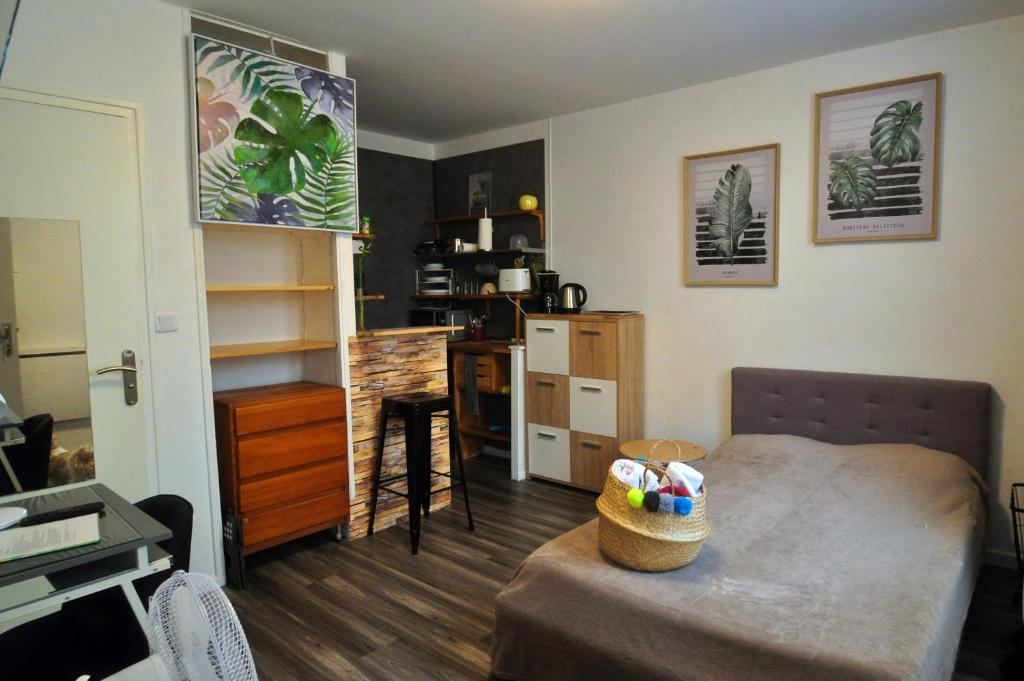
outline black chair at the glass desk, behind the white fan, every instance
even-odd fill
[[[134,583],[139,599],[148,607],[150,597],[171,571],[188,569],[193,507],[174,495],[150,497],[136,506],[174,533],[158,545],[171,554],[172,569]],[[103,679],[148,654],[145,632],[139,629],[124,593],[108,589],[0,634],[0,677],[75,681],[88,674]]]

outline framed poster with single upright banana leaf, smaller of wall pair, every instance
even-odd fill
[[[778,144],[683,159],[683,283],[778,283]]]

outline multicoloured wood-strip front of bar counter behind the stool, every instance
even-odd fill
[[[352,457],[355,470],[355,499],[350,508],[349,531],[352,539],[367,534],[370,520],[370,496],[377,453],[377,428],[381,399],[407,392],[447,392],[447,343],[443,333],[413,336],[353,338],[348,343],[352,397]],[[384,439],[383,477],[406,472],[406,432],[400,418],[388,421]],[[434,420],[431,430],[431,468],[449,472],[449,427]],[[445,477],[434,476],[433,488],[447,486]],[[392,483],[403,490],[404,483]],[[430,498],[430,510],[452,503],[451,492]],[[389,527],[407,517],[406,499],[381,492],[377,503],[375,530]]]

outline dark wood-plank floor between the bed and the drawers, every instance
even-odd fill
[[[595,495],[513,483],[507,462],[477,459],[467,469],[475,533],[457,501],[425,521],[416,556],[398,525],[346,544],[306,538],[249,558],[247,589],[228,595],[261,679],[489,677],[495,596],[534,549],[594,517]],[[1004,679],[998,663],[1020,622],[1013,593],[1011,571],[983,570],[955,681]]]

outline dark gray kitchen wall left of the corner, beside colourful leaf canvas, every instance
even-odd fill
[[[416,306],[413,250],[432,238],[423,221],[434,214],[433,162],[360,148],[358,163],[359,214],[370,216],[377,233],[367,292],[387,296],[366,303],[367,328],[406,327]]]

